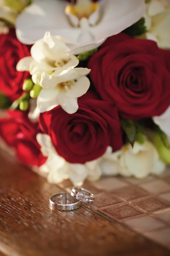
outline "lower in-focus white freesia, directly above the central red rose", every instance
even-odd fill
[[[79,108],[77,98],[90,87],[88,73],[90,70],[87,68],[64,70],[57,77],[42,73],[42,90],[37,98],[39,111],[43,113],[60,105],[67,113],[75,113]]]

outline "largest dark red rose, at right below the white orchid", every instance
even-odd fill
[[[170,105],[170,51],[123,33],[105,41],[89,63],[102,99],[116,104],[124,118],[159,116]],[[169,65],[170,67],[170,65]]]

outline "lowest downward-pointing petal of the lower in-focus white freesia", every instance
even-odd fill
[[[64,93],[59,94],[58,102],[62,109],[68,114],[76,113],[79,108],[77,98],[68,98]]]

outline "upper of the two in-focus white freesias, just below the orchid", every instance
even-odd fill
[[[21,59],[17,71],[29,71],[35,84],[40,83],[43,72],[59,75],[63,70],[74,68],[79,64],[76,56],[65,52],[65,44],[45,32],[44,38],[31,47],[31,56]]]

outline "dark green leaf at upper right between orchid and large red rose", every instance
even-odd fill
[[[132,26],[125,29],[123,32],[131,36],[142,35],[146,33],[147,28],[145,26],[145,18],[142,17],[139,21],[137,21]]]

